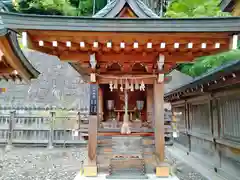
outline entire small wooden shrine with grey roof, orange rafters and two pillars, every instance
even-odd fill
[[[96,176],[102,164],[110,176],[124,168],[144,171],[154,155],[159,162],[151,172],[168,176],[164,74],[178,63],[228,50],[240,31],[238,17],[160,19],[140,0],[112,1],[94,17],[0,16],[9,31],[23,33],[28,48],[69,62],[91,83],[86,176]],[[101,148],[104,143],[110,144]],[[117,151],[118,143],[124,152]],[[154,148],[145,148],[149,144]],[[119,162],[126,167],[117,169]]]

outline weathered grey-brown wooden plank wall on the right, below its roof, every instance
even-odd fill
[[[227,179],[240,178],[240,89],[204,94],[172,103],[179,147]]]

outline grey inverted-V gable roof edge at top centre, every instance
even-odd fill
[[[93,17],[116,17],[124,8],[125,4],[128,4],[139,18],[159,18],[159,16],[155,14],[150,8],[148,8],[141,0],[113,0]]]

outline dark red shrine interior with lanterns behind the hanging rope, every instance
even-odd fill
[[[120,85],[119,85],[120,86]],[[101,128],[120,128],[124,115],[124,92],[118,89],[111,91],[108,84],[100,86],[103,91],[103,117]],[[134,90],[128,92],[128,115],[132,128],[142,128],[150,123],[147,119],[147,94],[146,91]],[[145,125],[146,126],[146,125]],[[151,126],[146,126],[148,128]]]

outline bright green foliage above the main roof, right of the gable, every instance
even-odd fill
[[[167,8],[165,17],[220,17],[230,16],[222,12],[219,7],[220,0],[173,0]]]

